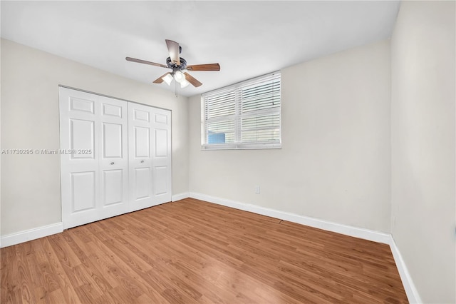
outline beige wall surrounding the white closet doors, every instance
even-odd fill
[[[59,84],[170,109],[172,192],[188,191],[188,98],[7,40],[1,40],[1,148],[59,148]],[[58,222],[59,156],[2,155],[2,235]]]

